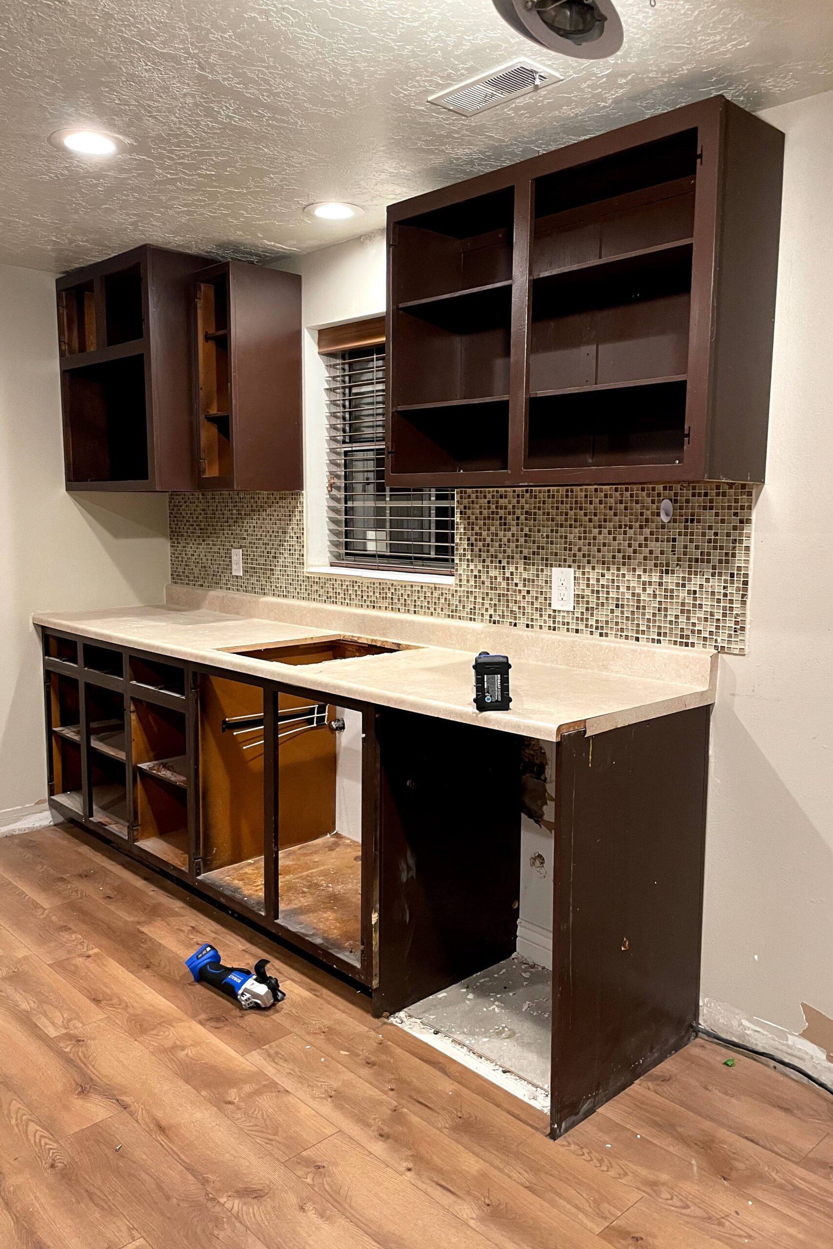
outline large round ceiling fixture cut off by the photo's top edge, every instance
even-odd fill
[[[624,42],[613,0],[492,0],[503,21],[525,39],[562,56],[602,60]]]

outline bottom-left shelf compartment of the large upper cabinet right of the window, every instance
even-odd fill
[[[508,400],[395,412],[393,472],[501,472],[508,468]]]

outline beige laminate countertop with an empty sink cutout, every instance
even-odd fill
[[[400,707],[543,741],[558,741],[567,729],[599,733],[714,702],[717,656],[707,651],[224,591],[169,587],[164,606],[39,612],[32,620],[45,628],[320,689],[333,698]],[[413,649],[303,666],[229,653],[229,648],[340,633],[402,642]],[[472,706],[472,662],[482,649],[510,657],[508,712],[478,714]]]

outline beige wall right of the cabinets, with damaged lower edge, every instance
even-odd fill
[[[712,726],[703,1022],[832,1082],[833,92],[762,116],[787,134],[769,451]]]

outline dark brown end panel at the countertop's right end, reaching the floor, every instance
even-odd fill
[[[708,723],[702,707],[558,744],[552,1135],[691,1038]]]

